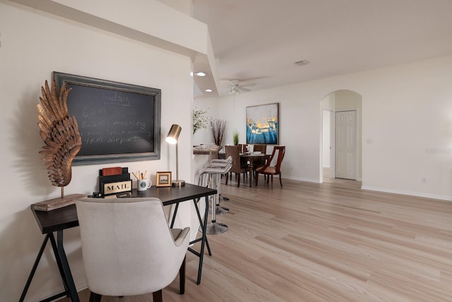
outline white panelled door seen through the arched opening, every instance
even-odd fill
[[[356,180],[356,111],[335,112],[335,177]]]

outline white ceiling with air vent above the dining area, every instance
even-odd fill
[[[452,0],[193,3],[208,25],[220,95],[230,79],[259,90],[452,53]]]

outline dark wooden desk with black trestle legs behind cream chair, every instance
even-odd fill
[[[133,197],[157,197],[160,200],[162,200],[162,204],[164,206],[167,206],[169,204],[176,204],[176,208],[174,209],[174,214],[172,216],[171,227],[174,225],[174,219],[176,218],[179,202],[193,200],[198,215],[199,223],[201,223],[201,227],[203,228],[202,237],[190,242],[190,244],[192,244],[201,241],[201,251],[197,252],[196,250],[189,248],[191,252],[193,252],[195,255],[199,257],[198,280],[196,284],[201,283],[204,246],[205,245],[208,246],[206,238],[206,226],[209,207],[208,197],[216,193],[217,190],[213,190],[207,187],[201,187],[198,185],[191,185],[189,183],[186,183],[183,187],[152,187],[151,189],[146,191],[138,192],[136,190],[133,190],[132,192]],[[201,219],[201,214],[199,213],[197,203],[201,197],[205,197],[206,199],[206,211],[204,213],[204,221],[202,221]],[[43,301],[53,301],[56,298],[60,298],[62,296],[69,296],[72,302],[79,302],[76,286],[73,283],[71,269],[69,267],[69,262],[66,258],[66,252],[64,251],[63,246],[63,231],[66,228],[73,228],[75,226],[78,226],[76,205],[72,204],[68,207],[63,207],[61,209],[55,209],[53,211],[48,212],[36,211],[35,209],[32,209],[32,212],[35,215],[35,219],[37,221],[38,226],[40,227],[41,233],[45,234],[46,236],[42,241],[40,251],[37,254],[35,264],[32,267],[30,276],[28,277],[27,283],[25,284],[25,288],[23,289],[22,296],[20,296],[19,301],[22,302],[25,299],[32,278],[35,275],[37,265],[39,264],[45,246],[47,245],[47,242],[50,239],[55,259],[57,260],[59,273],[64,284],[64,289],[66,290],[60,294],[54,295]],[[54,232],[57,232],[57,241],[55,241]],[[209,255],[211,255],[209,247],[208,252]]]

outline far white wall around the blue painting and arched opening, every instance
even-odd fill
[[[452,55],[218,100],[226,141],[245,108],[280,103],[283,178],[320,182],[322,112],[338,90],[362,95],[362,187],[452,200]],[[195,103],[196,104],[196,103]],[[422,180],[425,182],[422,182]]]

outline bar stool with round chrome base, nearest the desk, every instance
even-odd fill
[[[210,179],[210,184],[213,189],[217,189],[217,191],[220,189],[221,185],[221,175],[226,174],[229,172],[231,168],[231,165],[228,164],[224,168],[222,167],[213,167],[213,168],[204,168],[201,171],[201,174],[199,175],[200,181],[201,178],[208,177]],[[219,223],[216,221],[216,207],[217,207],[217,199],[219,196],[219,192],[217,194],[213,195],[212,199],[212,222],[208,223],[206,227],[206,234],[208,235],[214,235],[214,234],[221,234],[225,233],[227,231],[227,226],[224,223]]]

